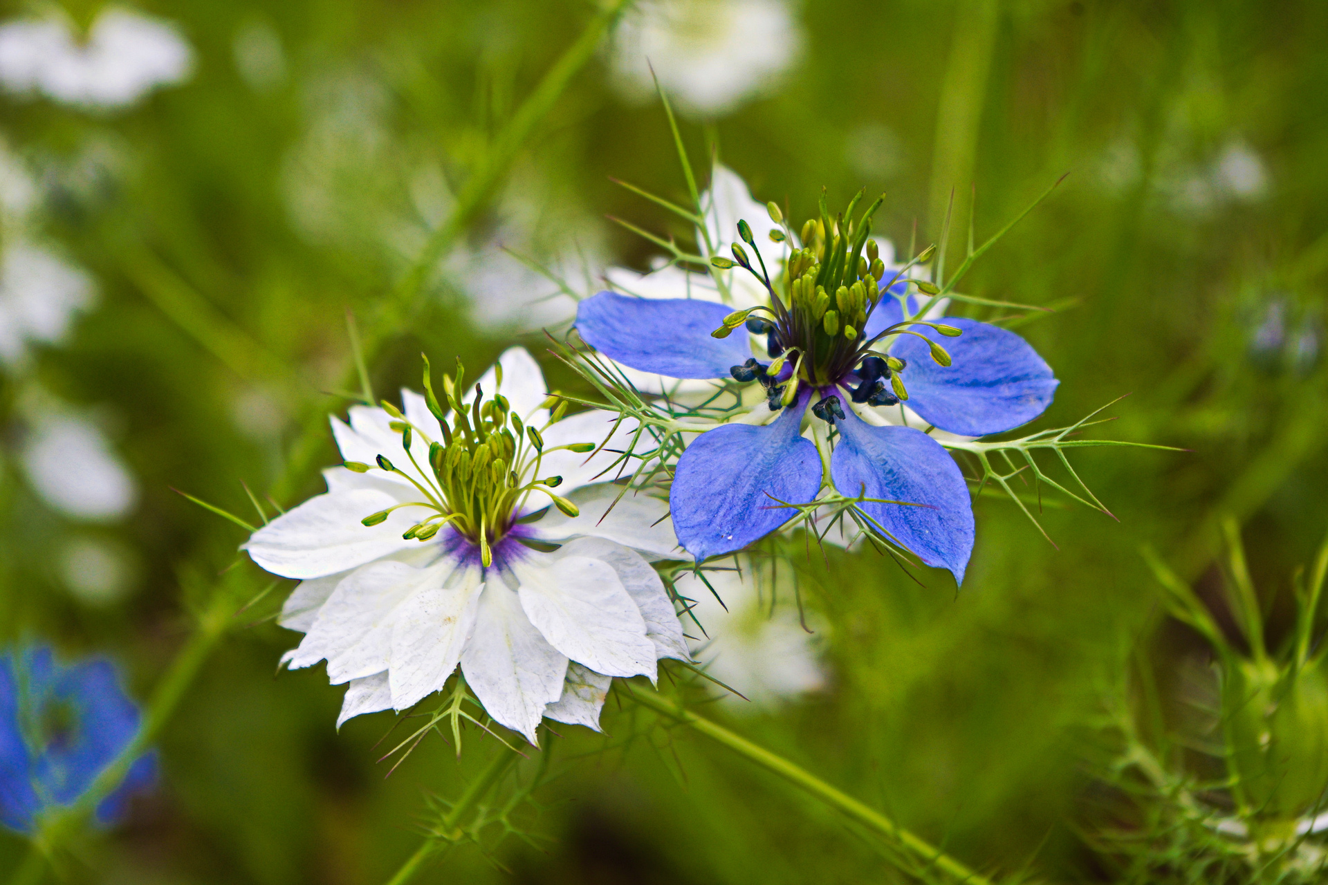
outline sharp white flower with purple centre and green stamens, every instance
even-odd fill
[[[244,544],[301,580],[282,624],[305,636],[286,661],[327,659],[349,683],[339,724],[414,706],[459,663],[489,715],[535,742],[542,716],[598,728],[611,677],[688,658],[647,560],[681,556],[665,504],[628,492],[610,510],[616,455],[586,452],[616,415],[552,421],[547,395],[514,348],[471,397],[446,379],[450,414],[432,393],[402,391],[400,413],[352,407],[349,426],[332,419],[347,466],[324,472],[328,492]]]

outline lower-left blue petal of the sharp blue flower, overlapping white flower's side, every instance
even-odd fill
[[[798,433],[809,395],[764,427],[708,430],[677,459],[669,508],[673,531],[699,561],[732,553],[797,516],[821,490],[821,456]],[[760,406],[764,409],[764,406]]]

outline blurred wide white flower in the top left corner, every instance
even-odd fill
[[[193,52],[174,25],[129,9],[104,9],[86,38],[64,16],[0,27],[0,82],[69,105],[131,105],[191,69]]]

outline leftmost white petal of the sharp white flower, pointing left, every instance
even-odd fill
[[[401,533],[420,521],[424,508],[402,507],[377,525],[360,521],[401,500],[401,496],[369,488],[317,495],[254,532],[240,549],[248,551],[268,572],[283,577],[345,572],[420,544],[402,540]]]

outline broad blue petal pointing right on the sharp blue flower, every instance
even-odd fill
[[[1021,337],[987,322],[946,317],[964,334],[947,338],[927,326],[912,326],[951,357],[942,366],[927,344],[900,336],[890,353],[908,361],[903,382],[908,406],[930,425],[964,437],[985,437],[1025,425],[1046,411],[1060,381]]]

